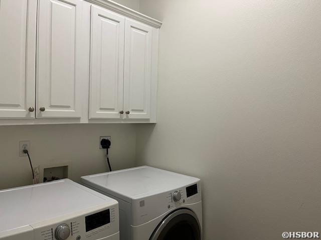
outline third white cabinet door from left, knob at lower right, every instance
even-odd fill
[[[125,18],[91,6],[90,118],[121,118]]]

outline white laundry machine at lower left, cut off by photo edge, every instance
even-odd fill
[[[69,179],[0,190],[2,240],[119,240],[118,202]]]

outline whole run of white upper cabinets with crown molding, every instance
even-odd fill
[[[0,0],[0,125],[156,122],[161,25],[112,0]]]

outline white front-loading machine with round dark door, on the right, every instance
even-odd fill
[[[122,240],[202,239],[198,178],[140,166],[81,180],[119,202]]]

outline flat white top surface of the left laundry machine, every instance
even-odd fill
[[[115,200],[69,179],[0,190],[0,232]]]

